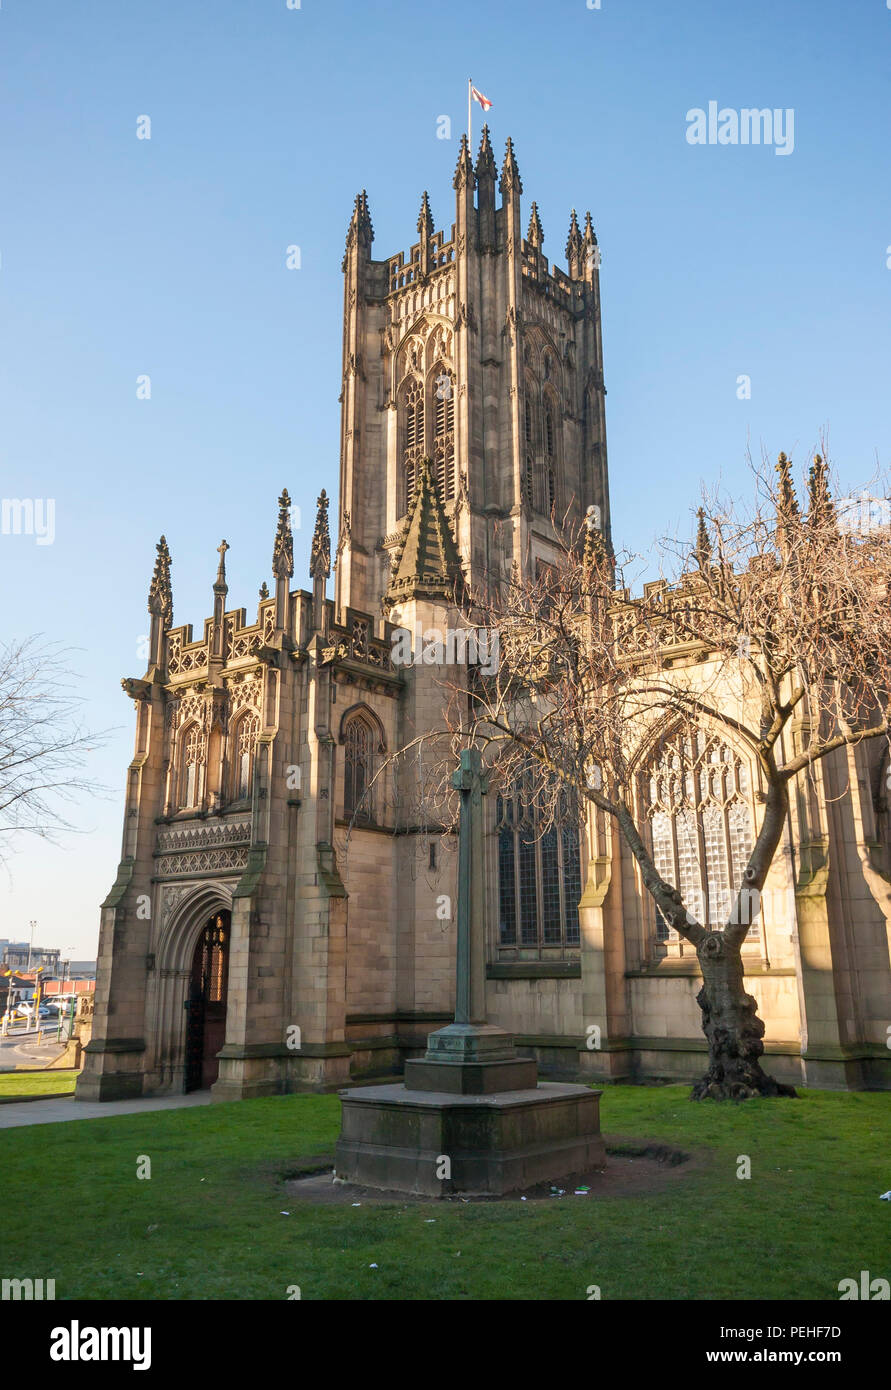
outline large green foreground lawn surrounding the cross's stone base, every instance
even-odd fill
[[[316,1207],[282,1179],[332,1152],[334,1095],[281,1097],[0,1136],[4,1276],[57,1298],[838,1298],[891,1277],[891,1094],[687,1099],[610,1087],[603,1131],[705,1155],[649,1197]],[[752,1177],[737,1177],[748,1154]],[[152,1161],[150,1180],[136,1177]],[[289,1211],[289,1216],[282,1216]],[[430,1219],[434,1218],[431,1222]],[[51,1241],[47,1241],[51,1232]],[[377,1269],[370,1266],[377,1264]],[[21,1268],[19,1268],[21,1265]]]

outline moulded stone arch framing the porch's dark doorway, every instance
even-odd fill
[[[225,915],[227,923],[231,926],[231,913],[232,892],[225,884],[193,884],[178,899],[163,926],[153,1009],[156,1019],[153,1072],[157,1079],[157,1090],[183,1091],[186,1088],[188,1005],[196,949],[209,922],[218,915]],[[225,965],[228,974],[228,959]]]

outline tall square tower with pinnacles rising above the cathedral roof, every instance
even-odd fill
[[[373,260],[366,193],[343,257],[343,391],[336,609],[375,612],[430,457],[471,589],[516,562],[555,552],[553,520],[599,507],[609,491],[599,253],[591,215],[571,214],[569,274],[549,265],[532,203],[507,149],[498,181],[488,126],[477,165],[461,139],[455,224]]]

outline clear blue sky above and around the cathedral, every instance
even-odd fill
[[[0,937],[36,919],[95,955],[160,532],[177,621],[209,612],[221,537],[250,609],[288,485],[304,575],[336,491],[352,202],[381,259],[425,188],[452,224],[468,75],[548,256],[571,206],[594,214],[617,543],[689,528],[703,480],[745,492],[749,445],[803,466],[827,430],[852,486],[888,466],[890,57],[885,0],[3,0],[0,492],[53,498],[56,538],[0,535],[1,634],[70,646],[114,733],[82,833],[0,878]],[[792,108],[794,152],[691,146],[710,100]]]

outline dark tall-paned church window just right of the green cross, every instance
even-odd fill
[[[498,947],[510,955],[560,955],[577,948],[581,898],[580,816],[562,795],[559,816],[545,823],[531,780],[496,799]],[[514,948],[514,949],[509,949]]]

